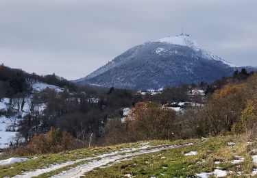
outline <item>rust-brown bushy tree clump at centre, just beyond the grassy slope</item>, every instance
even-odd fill
[[[175,111],[157,103],[137,103],[125,123],[120,118],[109,120],[102,144],[139,140],[174,139]],[[176,131],[178,132],[178,131]]]

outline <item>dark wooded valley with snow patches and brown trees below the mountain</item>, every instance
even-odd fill
[[[10,134],[1,138],[1,148],[10,146],[5,153],[57,153],[244,133],[255,127],[256,73],[245,69],[213,84],[159,91],[75,86],[54,74],[39,76],[3,65],[0,73],[1,131]],[[202,93],[190,94],[193,88]]]

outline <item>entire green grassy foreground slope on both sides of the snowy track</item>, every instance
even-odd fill
[[[175,142],[150,141],[149,147],[161,147],[163,145],[186,144],[179,148],[162,150],[156,153],[147,153],[127,157],[126,160],[109,162],[107,165],[95,168],[85,173],[85,177],[195,177],[197,173],[213,173],[215,170],[226,172],[227,176],[246,177],[252,174],[255,165],[252,155],[255,155],[257,144],[247,143],[243,136],[226,136],[196,140],[178,140]],[[51,165],[71,162],[86,157],[93,157],[103,153],[121,154],[119,151],[127,148],[142,147],[142,142],[120,144],[112,147],[96,147],[93,149],[79,149],[66,151],[51,155],[37,155],[30,157],[31,160],[16,164],[0,166],[0,177],[13,177],[21,175],[27,171],[44,169]],[[117,151],[114,152],[114,151]],[[195,151],[196,155],[185,155]],[[58,175],[64,170],[69,170],[76,166],[101,160],[96,157],[92,160],[83,160],[74,164],[63,166],[56,170],[38,175],[38,177],[51,177]],[[210,175],[210,177],[215,177]]]

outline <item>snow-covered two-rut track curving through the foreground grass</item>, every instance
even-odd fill
[[[147,143],[148,144],[148,143]],[[22,175],[16,175],[15,177],[36,177],[42,175],[44,173],[49,173],[51,171],[64,168],[66,166],[72,166],[73,164],[90,160],[90,162],[81,163],[69,170],[64,170],[62,173],[55,175],[53,177],[82,177],[85,173],[88,173],[95,168],[101,168],[103,166],[108,166],[108,164],[114,165],[120,162],[124,162],[127,160],[131,160],[137,155],[143,155],[147,153],[156,153],[158,151],[164,151],[169,149],[175,149],[179,147],[183,147],[181,144],[162,144],[159,146],[149,146],[149,145],[140,145],[139,147],[132,147],[127,149],[121,149],[120,151],[114,151],[112,153],[103,153],[101,155],[96,155],[95,157],[87,157],[80,160],[64,162],[61,164],[54,164],[49,166],[48,168],[41,168],[38,170],[31,170],[23,173]],[[187,146],[189,144],[184,144]],[[191,145],[191,144],[190,144]]]

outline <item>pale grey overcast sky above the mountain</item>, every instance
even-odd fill
[[[1,0],[1,63],[85,77],[125,50],[182,31],[238,66],[257,66],[256,0]]]

